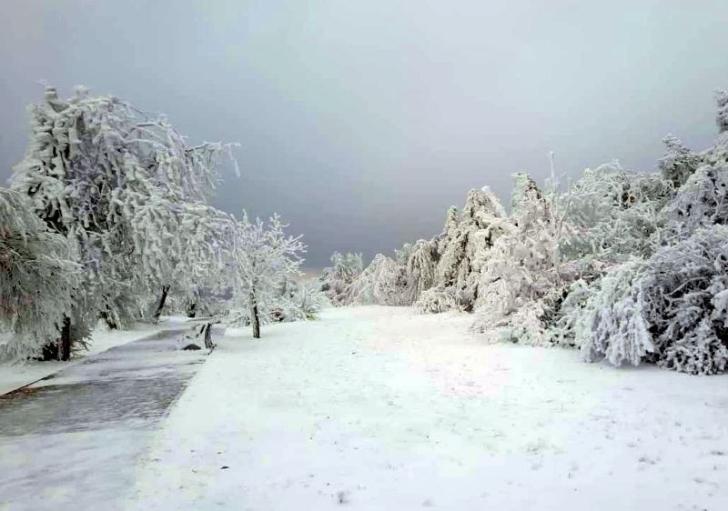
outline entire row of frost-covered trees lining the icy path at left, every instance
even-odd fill
[[[235,145],[189,145],[167,117],[76,87],[30,105],[30,143],[0,188],[0,357],[67,360],[96,322],[156,320],[167,296],[238,322],[312,316],[305,245],[280,218],[209,204]],[[228,296],[228,300],[222,297]]]

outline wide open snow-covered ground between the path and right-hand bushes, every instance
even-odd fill
[[[485,346],[469,316],[228,332],[129,509],[726,509],[728,378]]]

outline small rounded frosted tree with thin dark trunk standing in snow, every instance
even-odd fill
[[[229,272],[232,275],[233,303],[241,309],[260,338],[261,317],[268,318],[280,303],[280,284],[286,276],[298,275],[305,245],[301,236],[289,236],[278,215],[268,223],[248,215],[238,222],[232,234]],[[238,319],[239,320],[239,319]]]

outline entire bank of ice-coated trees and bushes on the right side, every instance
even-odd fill
[[[728,93],[717,100],[721,134],[706,151],[668,135],[656,172],[612,162],[563,193],[553,166],[546,193],[516,174],[510,215],[487,187],[472,190],[440,235],[339,278],[338,303],[474,312],[473,329],[491,339],[575,347],[615,366],[724,372]]]

